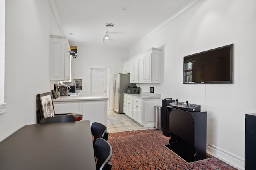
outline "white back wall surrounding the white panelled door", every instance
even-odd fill
[[[112,109],[114,74],[123,72],[123,61],[129,58],[128,49],[77,45],[77,51],[78,57],[73,59],[72,79],[82,79],[80,95],[90,96],[90,68],[108,67],[110,68],[110,96],[108,102],[109,108]],[[78,90],[76,91],[78,92]]]

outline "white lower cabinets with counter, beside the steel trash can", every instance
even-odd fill
[[[126,112],[124,113],[144,127],[154,127],[154,106],[159,99],[141,99],[124,94]]]

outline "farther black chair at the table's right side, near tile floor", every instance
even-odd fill
[[[93,145],[99,137],[102,137],[106,141],[108,140],[107,127],[101,123],[94,122],[91,126],[92,135],[94,136]]]

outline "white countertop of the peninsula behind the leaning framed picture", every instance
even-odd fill
[[[64,102],[64,101],[92,101],[92,100],[108,100],[106,97],[99,96],[59,96],[56,99],[52,99],[53,102]]]

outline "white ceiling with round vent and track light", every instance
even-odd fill
[[[70,44],[129,49],[191,1],[54,0],[54,4]],[[106,31],[109,39],[102,44]]]

